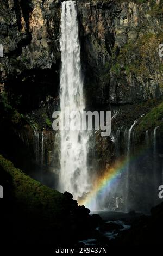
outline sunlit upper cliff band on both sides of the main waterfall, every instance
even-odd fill
[[[90,105],[134,103],[162,95],[158,46],[163,40],[163,3],[140,3],[77,1]],[[31,74],[36,69],[48,75],[44,77],[50,84],[46,94],[58,91],[60,4],[52,0],[1,1],[1,88],[8,77],[16,79],[22,73],[22,86],[29,76],[28,83],[32,83],[39,76]],[[49,81],[52,76],[53,81]]]

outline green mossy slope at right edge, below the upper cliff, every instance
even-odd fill
[[[153,130],[156,126],[160,126],[163,131],[163,102],[149,111],[142,119],[136,130],[138,134],[146,130]]]

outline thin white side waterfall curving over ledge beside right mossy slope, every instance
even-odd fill
[[[127,169],[126,169],[126,205],[125,209],[128,211],[128,193],[129,193],[129,169],[130,169],[130,139],[131,139],[131,132],[137,123],[137,120],[134,121],[134,124],[131,125],[128,131],[128,139],[127,139]]]

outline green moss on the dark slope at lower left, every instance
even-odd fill
[[[33,180],[20,169],[4,159],[0,155],[0,167],[11,176],[13,193],[20,203],[26,203],[28,209],[52,210],[53,214],[59,213],[63,209],[64,195],[58,191],[41,185],[40,182]]]

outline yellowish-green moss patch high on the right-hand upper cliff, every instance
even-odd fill
[[[146,34],[140,32],[137,40],[129,40],[123,47],[117,50],[115,45],[112,55],[111,72],[120,75],[121,72],[129,76],[134,73],[135,76],[149,78],[150,72],[155,65],[160,74],[162,73],[162,63],[158,66],[158,56],[156,56],[156,49],[158,49],[160,42],[163,41],[162,31],[158,33],[148,32]],[[151,69],[149,68],[151,66]],[[121,67],[121,69],[120,69]]]

